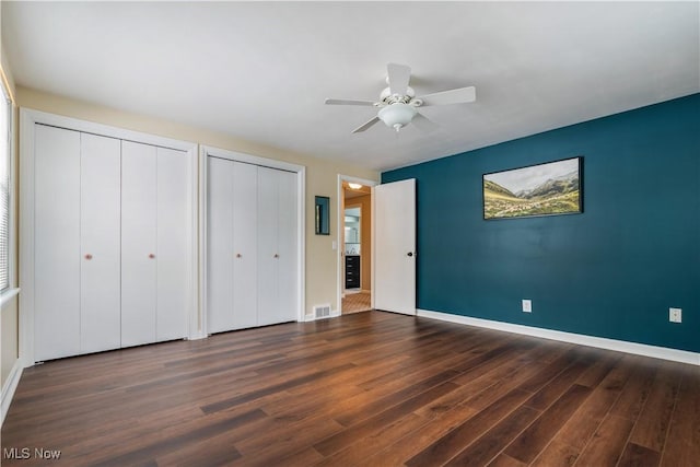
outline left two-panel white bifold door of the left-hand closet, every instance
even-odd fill
[[[118,348],[119,140],[35,130],[35,358]]]

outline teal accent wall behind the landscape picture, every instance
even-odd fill
[[[482,174],[579,155],[582,214],[483,220]],[[405,178],[419,308],[700,352],[700,94],[382,174]]]

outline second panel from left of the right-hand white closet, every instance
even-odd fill
[[[254,327],[257,314],[257,172],[234,162],[233,171],[233,328]]]

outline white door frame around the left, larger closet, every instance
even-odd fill
[[[34,360],[34,128],[47,125],[66,130],[93,133],[108,138],[128,140],[184,151],[190,160],[188,197],[191,211],[189,229],[188,271],[188,336],[189,339],[205,337],[198,323],[199,291],[197,289],[197,143],[158,137],[140,131],[127,130],[103,124],[49,114],[26,107],[20,108],[20,311],[19,311],[19,359],[27,367]]]

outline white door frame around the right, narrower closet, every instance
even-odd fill
[[[296,174],[296,303],[295,313],[299,323],[304,322],[304,310],[306,303],[305,279],[305,210],[306,210],[306,167],[303,165],[292,164],[290,162],[277,161],[273,159],[260,157],[258,155],[246,154],[243,152],[229,151],[211,145],[201,145],[199,149],[199,310],[201,331],[206,337],[207,334],[207,186],[208,186],[208,156],[225,159],[229,161],[244,162],[264,167],[277,168],[280,171],[292,172]]]

